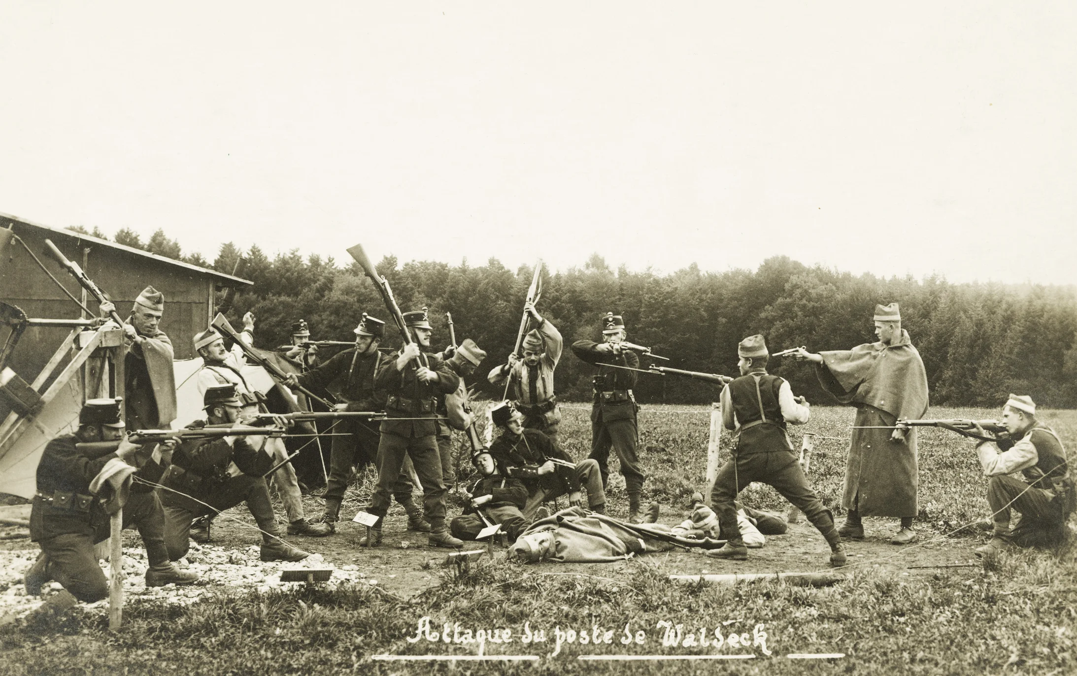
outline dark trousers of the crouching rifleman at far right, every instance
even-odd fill
[[[1066,519],[1061,501],[1054,499],[1051,491],[1029,488],[1024,481],[1005,475],[991,477],[988,504],[994,513],[995,535],[1019,547],[1050,547],[1065,538]],[[1021,520],[1010,531],[1013,509],[1021,513]]]

